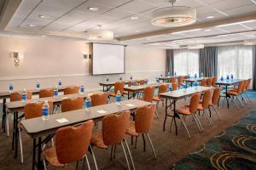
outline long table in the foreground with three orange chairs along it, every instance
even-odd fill
[[[54,136],[57,129],[77,125],[88,120],[99,119],[110,114],[119,114],[128,110],[134,111],[138,107],[147,105],[152,104],[139,99],[130,99],[120,102],[119,105],[117,103],[110,103],[107,105],[90,107],[89,109],[67,111],[50,115],[49,119],[46,121],[43,121],[42,117],[22,120],[20,122],[21,126],[33,140],[32,170],[35,169],[35,167],[38,167],[38,170],[43,168],[41,161],[42,145],[47,143]],[[37,156],[36,152],[38,153]]]

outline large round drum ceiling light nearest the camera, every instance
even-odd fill
[[[154,26],[174,27],[188,26],[196,21],[196,9],[190,7],[174,7],[176,0],[170,0],[172,7],[157,8],[152,12],[151,24]]]

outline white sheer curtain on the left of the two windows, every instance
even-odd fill
[[[199,50],[198,49],[175,49],[174,71],[177,75],[195,75],[199,72]]]

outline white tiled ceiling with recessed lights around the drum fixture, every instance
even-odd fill
[[[256,14],[255,0],[177,0],[175,6],[189,6],[197,9],[197,23],[213,20],[223,20],[241,15]],[[151,12],[155,8],[169,6],[168,0],[23,0],[8,27],[28,30],[61,31],[68,33],[82,33],[96,29],[114,31],[115,37],[127,37],[150,31],[160,31],[166,28],[150,24]],[[92,12],[88,8],[96,7],[98,11]],[[47,15],[41,19],[38,15]],[[131,20],[137,16],[137,20]],[[207,16],[214,16],[207,19]],[[34,25],[30,27],[29,25]],[[207,30],[207,31],[205,31]],[[158,37],[147,37],[127,41],[127,43],[148,43],[158,41],[173,41],[183,38],[205,37],[236,31],[256,30],[256,21],[242,25],[212,27],[200,31],[185,32],[182,34],[169,34]],[[13,33],[0,32],[0,35],[15,36]],[[18,35],[16,35],[18,36]],[[22,36],[22,35],[21,35]],[[36,35],[23,35],[38,37]],[[239,36],[219,37],[223,40],[243,40],[246,34]],[[212,39],[208,37],[208,39]],[[203,40],[203,38],[202,38]],[[215,42],[215,40],[212,42]],[[185,43],[185,41],[184,41]]]

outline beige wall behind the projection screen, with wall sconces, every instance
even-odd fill
[[[51,40],[48,38],[0,37],[0,91],[6,91],[9,82],[15,89],[34,88],[39,80],[42,88],[54,87],[61,78],[64,85],[80,85],[87,89],[97,89],[98,82],[106,76],[90,76],[89,62],[83,58],[88,54],[85,42]],[[11,52],[24,55],[20,66],[15,67]],[[166,50],[157,48],[125,48],[124,78],[148,78],[154,81],[165,71]],[[115,81],[119,75],[111,75]]]

